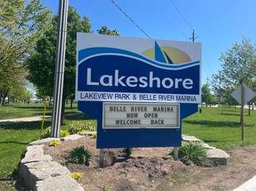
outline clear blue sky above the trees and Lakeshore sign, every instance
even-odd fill
[[[172,4],[175,4],[175,6]],[[41,0],[58,11],[58,0]],[[255,0],[115,0],[129,17],[153,39],[191,41],[192,30],[202,43],[202,81],[221,68],[219,57],[242,37],[256,42]],[[143,37],[110,0],[69,0],[81,17],[87,16],[94,32],[105,25],[124,37]],[[180,13],[179,13],[180,11]],[[185,18],[185,19],[184,19]]]

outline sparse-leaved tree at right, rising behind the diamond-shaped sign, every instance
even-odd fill
[[[256,76],[256,48],[249,39],[243,38],[242,43],[234,45],[221,54],[221,70],[213,75],[211,86],[219,98],[226,103],[235,103],[230,93],[235,87],[244,83],[251,86]]]

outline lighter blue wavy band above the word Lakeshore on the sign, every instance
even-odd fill
[[[144,57],[143,55],[139,55],[135,52],[131,52],[128,50],[122,50],[122,49],[118,49],[118,48],[112,48],[112,47],[90,47],[90,48],[86,48],[83,50],[79,50],[79,55],[78,55],[78,60],[79,62],[81,60],[84,60],[84,58],[86,57],[90,57],[92,55],[98,55],[98,54],[121,54],[121,55],[128,55],[128,56],[132,56],[132,57],[137,57],[141,60],[145,60],[146,62],[150,62],[153,65],[156,65],[158,67],[167,67],[167,68],[179,68],[179,67],[187,67],[190,65],[195,65],[197,63],[199,63],[200,61],[195,61],[195,62],[189,62],[186,64],[179,64],[179,65],[170,65],[164,62],[156,62],[155,60],[151,60],[148,57]]]

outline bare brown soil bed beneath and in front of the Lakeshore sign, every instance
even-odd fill
[[[71,149],[81,145],[92,154],[89,166],[69,162]],[[168,156],[172,148],[137,148],[131,157],[124,149],[105,149],[103,169],[95,139],[65,141],[44,149],[71,172],[84,173],[78,181],[84,190],[233,190],[256,174],[256,146],[232,150],[231,164],[222,167],[186,166]]]

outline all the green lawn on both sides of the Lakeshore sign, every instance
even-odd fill
[[[17,118],[25,116],[40,116],[42,104],[13,104],[0,107],[0,118]],[[48,108],[47,115],[50,115]],[[256,111],[247,116],[245,111],[245,144],[256,144]],[[72,121],[92,120],[89,116],[66,108],[62,129],[67,129]],[[45,127],[50,126],[50,119],[45,121]],[[1,178],[15,174],[19,161],[27,144],[40,136],[40,121],[22,122],[19,124],[0,124],[0,185]],[[239,108],[203,108],[203,113],[195,113],[182,123],[182,133],[196,136],[211,146],[221,149],[231,149],[242,145],[241,128],[239,125]],[[0,186],[1,188],[1,186]],[[0,189],[1,190],[1,189]]]

